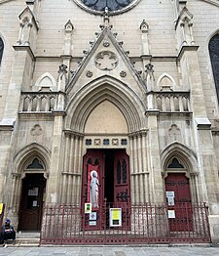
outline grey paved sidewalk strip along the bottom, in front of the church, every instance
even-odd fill
[[[72,246],[1,247],[0,256],[219,256],[219,247],[207,246]]]

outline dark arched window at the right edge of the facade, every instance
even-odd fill
[[[214,35],[209,42],[210,61],[216,86],[217,99],[219,101],[219,34]]]

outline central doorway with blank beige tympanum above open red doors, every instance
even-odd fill
[[[123,221],[129,227],[127,215],[130,186],[126,119],[118,107],[105,100],[91,111],[85,134],[86,142],[91,142],[91,145],[87,144],[87,153],[83,160],[82,205],[91,203],[91,212],[96,215],[94,227],[99,229],[104,225],[109,226],[109,216],[103,219],[102,208],[123,206]],[[89,218],[85,220],[85,225],[91,228]]]

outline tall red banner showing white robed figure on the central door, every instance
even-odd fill
[[[88,202],[91,208],[99,207],[99,165],[88,165]]]

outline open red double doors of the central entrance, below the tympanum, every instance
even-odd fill
[[[88,149],[83,164],[82,205],[91,203],[95,217],[94,222],[86,220],[85,226],[94,224],[101,229],[109,219],[99,216],[100,209],[125,206],[122,216],[126,223],[123,225],[128,227],[129,187],[129,160],[125,149]]]

